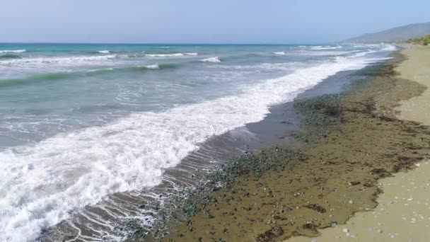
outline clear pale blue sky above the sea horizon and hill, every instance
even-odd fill
[[[430,0],[1,0],[0,42],[333,42],[430,21]]]

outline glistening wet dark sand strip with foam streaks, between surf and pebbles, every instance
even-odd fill
[[[380,54],[385,57],[386,54]],[[340,71],[337,74],[324,79],[313,88],[299,94],[300,98],[310,98],[322,93],[337,93],[349,86],[349,74],[354,70]],[[99,205],[88,205],[85,214],[73,216],[71,221],[62,221],[42,232],[40,240],[58,241],[78,236],[75,227],[81,230],[82,236],[88,238],[98,237],[92,229],[106,231],[113,226],[112,234],[129,238],[130,236],[142,236],[155,228],[163,227],[166,218],[171,217],[178,204],[185,200],[199,182],[222,166],[223,163],[236,159],[243,154],[257,153],[264,147],[298,145],[293,135],[299,132],[300,119],[294,111],[292,102],[273,105],[264,120],[249,123],[245,127],[233,129],[225,134],[214,136],[199,144],[197,151],[189,154],[174,168],[168,168],[163,174],[160,185],[141,190],[141,195],[133,192],[121,192],[110,195],[109,200],[114,205],[125,205],[125,214],[122,210],[109,207],[108,210],[100,209]],[[191,192],[192,193],[192,192]],[[101,204],[102,206],[104,204]],[[110,206],[109,203],[107,203]],[[121,207],[118,206],[118,209]],[[118,214],[119,217],[113,217]],[[98,218],[108,221],[99,224]],[[81,226],[82,224],[82,226]],[[88,229],[91,228],[91,229]],[[131,232],[132,234],[129,234]],[[61,236],[61,237],[60,237]]]

